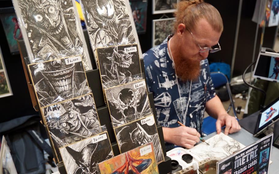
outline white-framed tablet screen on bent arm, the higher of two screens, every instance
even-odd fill
[[[255,67],[254,76],[269,81],[279,81],[279,55],[274,57],[261,54]]]

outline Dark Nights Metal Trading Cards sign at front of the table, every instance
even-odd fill
[[[218,174],[267,174],[273,133],[217,162]]]

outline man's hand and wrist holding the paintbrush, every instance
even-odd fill
[[[199,138],[201,137],[196,129],[184,126],[175,128],[163,127],[163,134],[165,142],[188,149],[194,147],[197,142],[200,142]]]

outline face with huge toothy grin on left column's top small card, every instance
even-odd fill
[[[61,59],[38,64],[39,71],[49,81],[57,95],[73,91],[75,64],[67,65]]]

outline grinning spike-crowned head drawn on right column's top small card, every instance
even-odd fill
[[[129,55],[124,51],[117,51],[117,47],[113,50],[111,69],[118,80],[131,76],[131,72],[128,69],[133,63],[132,56],[132,54]]]

